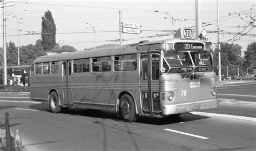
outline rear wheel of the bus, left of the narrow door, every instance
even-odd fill
[[[60,112],[60,106],[58,106],[59,98],[55,91],[51,92],[48,101],[49,101],[50,111],[52,113],[59,113]]]

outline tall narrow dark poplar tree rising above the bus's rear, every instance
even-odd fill
[[[50,51],[56,45],[56,25],[49,10],[42,17],[41,38],[44,51]]]

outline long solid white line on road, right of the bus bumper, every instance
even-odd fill
[[[238,115],[228,115],[228,114],[217,114],[217,113],[207,113],[207,112],[190,112],[195,115],[201,116],[215,116],[220,118],[229,118],[229,119],[236,119],[236,120],[247,120],[247,121],[256,121],[256,118],[250,118],[246,116],[238,116]]]

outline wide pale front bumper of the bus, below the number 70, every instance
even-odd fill
[[[179,113],[186,113],[192,111],[199,111],[203,109],[210,109],[210,108],[218,108],[219,107],[219,100],[206,100],[206,101],[197,101],[197,102],[188,102],[184,104],[176,104],[176,105],[163,105],[162,111],[163,115],[172,115],[172,114],[179,114]]]

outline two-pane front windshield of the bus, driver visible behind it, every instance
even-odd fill
[[[163,59],[165,73],[191,72],[192,66],[197,66],[195,71],[213,70],[211,54],[203,51],[167,52]]]

